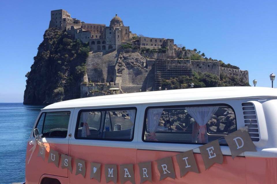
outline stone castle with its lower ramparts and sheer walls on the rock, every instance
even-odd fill
[[[189,58],[195,51],[177,47],[173,39],[138,37],[130,31],[129,26],[124,26],[117,14],[106,26],[81,22],[63,9],[53,10],[49,28],[59,28],[74,36],[74,39],[89,43],[91,52],[86,64],[85,83],[81,85],[81,97],[89,96],[90,91],[99,91],[99,86],[102,86],[102,90],[119,89],[122,93],[158,90],[162,78],[192,76],[193,71],[217,76],[223,73],[249,81],[247,70],[220,67],[218,61],[177,59]],[[122,49],[123,44],[136,49]],[[136,54],[142,49],[166,49],[166,52]]]

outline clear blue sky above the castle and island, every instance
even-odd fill
[[[277,73],[276,0],[0,1],[0,102],[23,102],[25,74],[55,9],[106,25],[118,14],[134,33],[171,38],[248,70],[250,85],[255,78],[257,86],[271,87],[269,74]]]

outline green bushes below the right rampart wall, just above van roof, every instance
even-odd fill
[[[195,73],[194,76],[179,76],[178,78],[171,78],[169,80],[162,79],[162,89],[186,89],[190,88],[190,84],[194,83],[194,88],[201,87],[224,87],[224,86],[249,86],[249,83],[244,83],[243,78],[237,76],[227,77],[220,74],[211,73]]]

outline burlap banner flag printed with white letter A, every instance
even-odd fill
[[[126,181],[130,181],[131,183],[135,184],[133,164],[120,165],[119,175],[121,184],[125,183]]]

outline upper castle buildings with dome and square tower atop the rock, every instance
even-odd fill
[[[83,43],[88,42],[91,51],[108,51],[119,49],[122,44],[132,44],[140,47],[158,49],[168,47],[173,51],[174,40],[164,38],[137,37],[130,31],[129,26],[124,26],[123,21],[117,14],[110,21],[110,25],[91,24],[81,22],[63,9],[51,11],[49,28],[59,28],[74,35]]]

